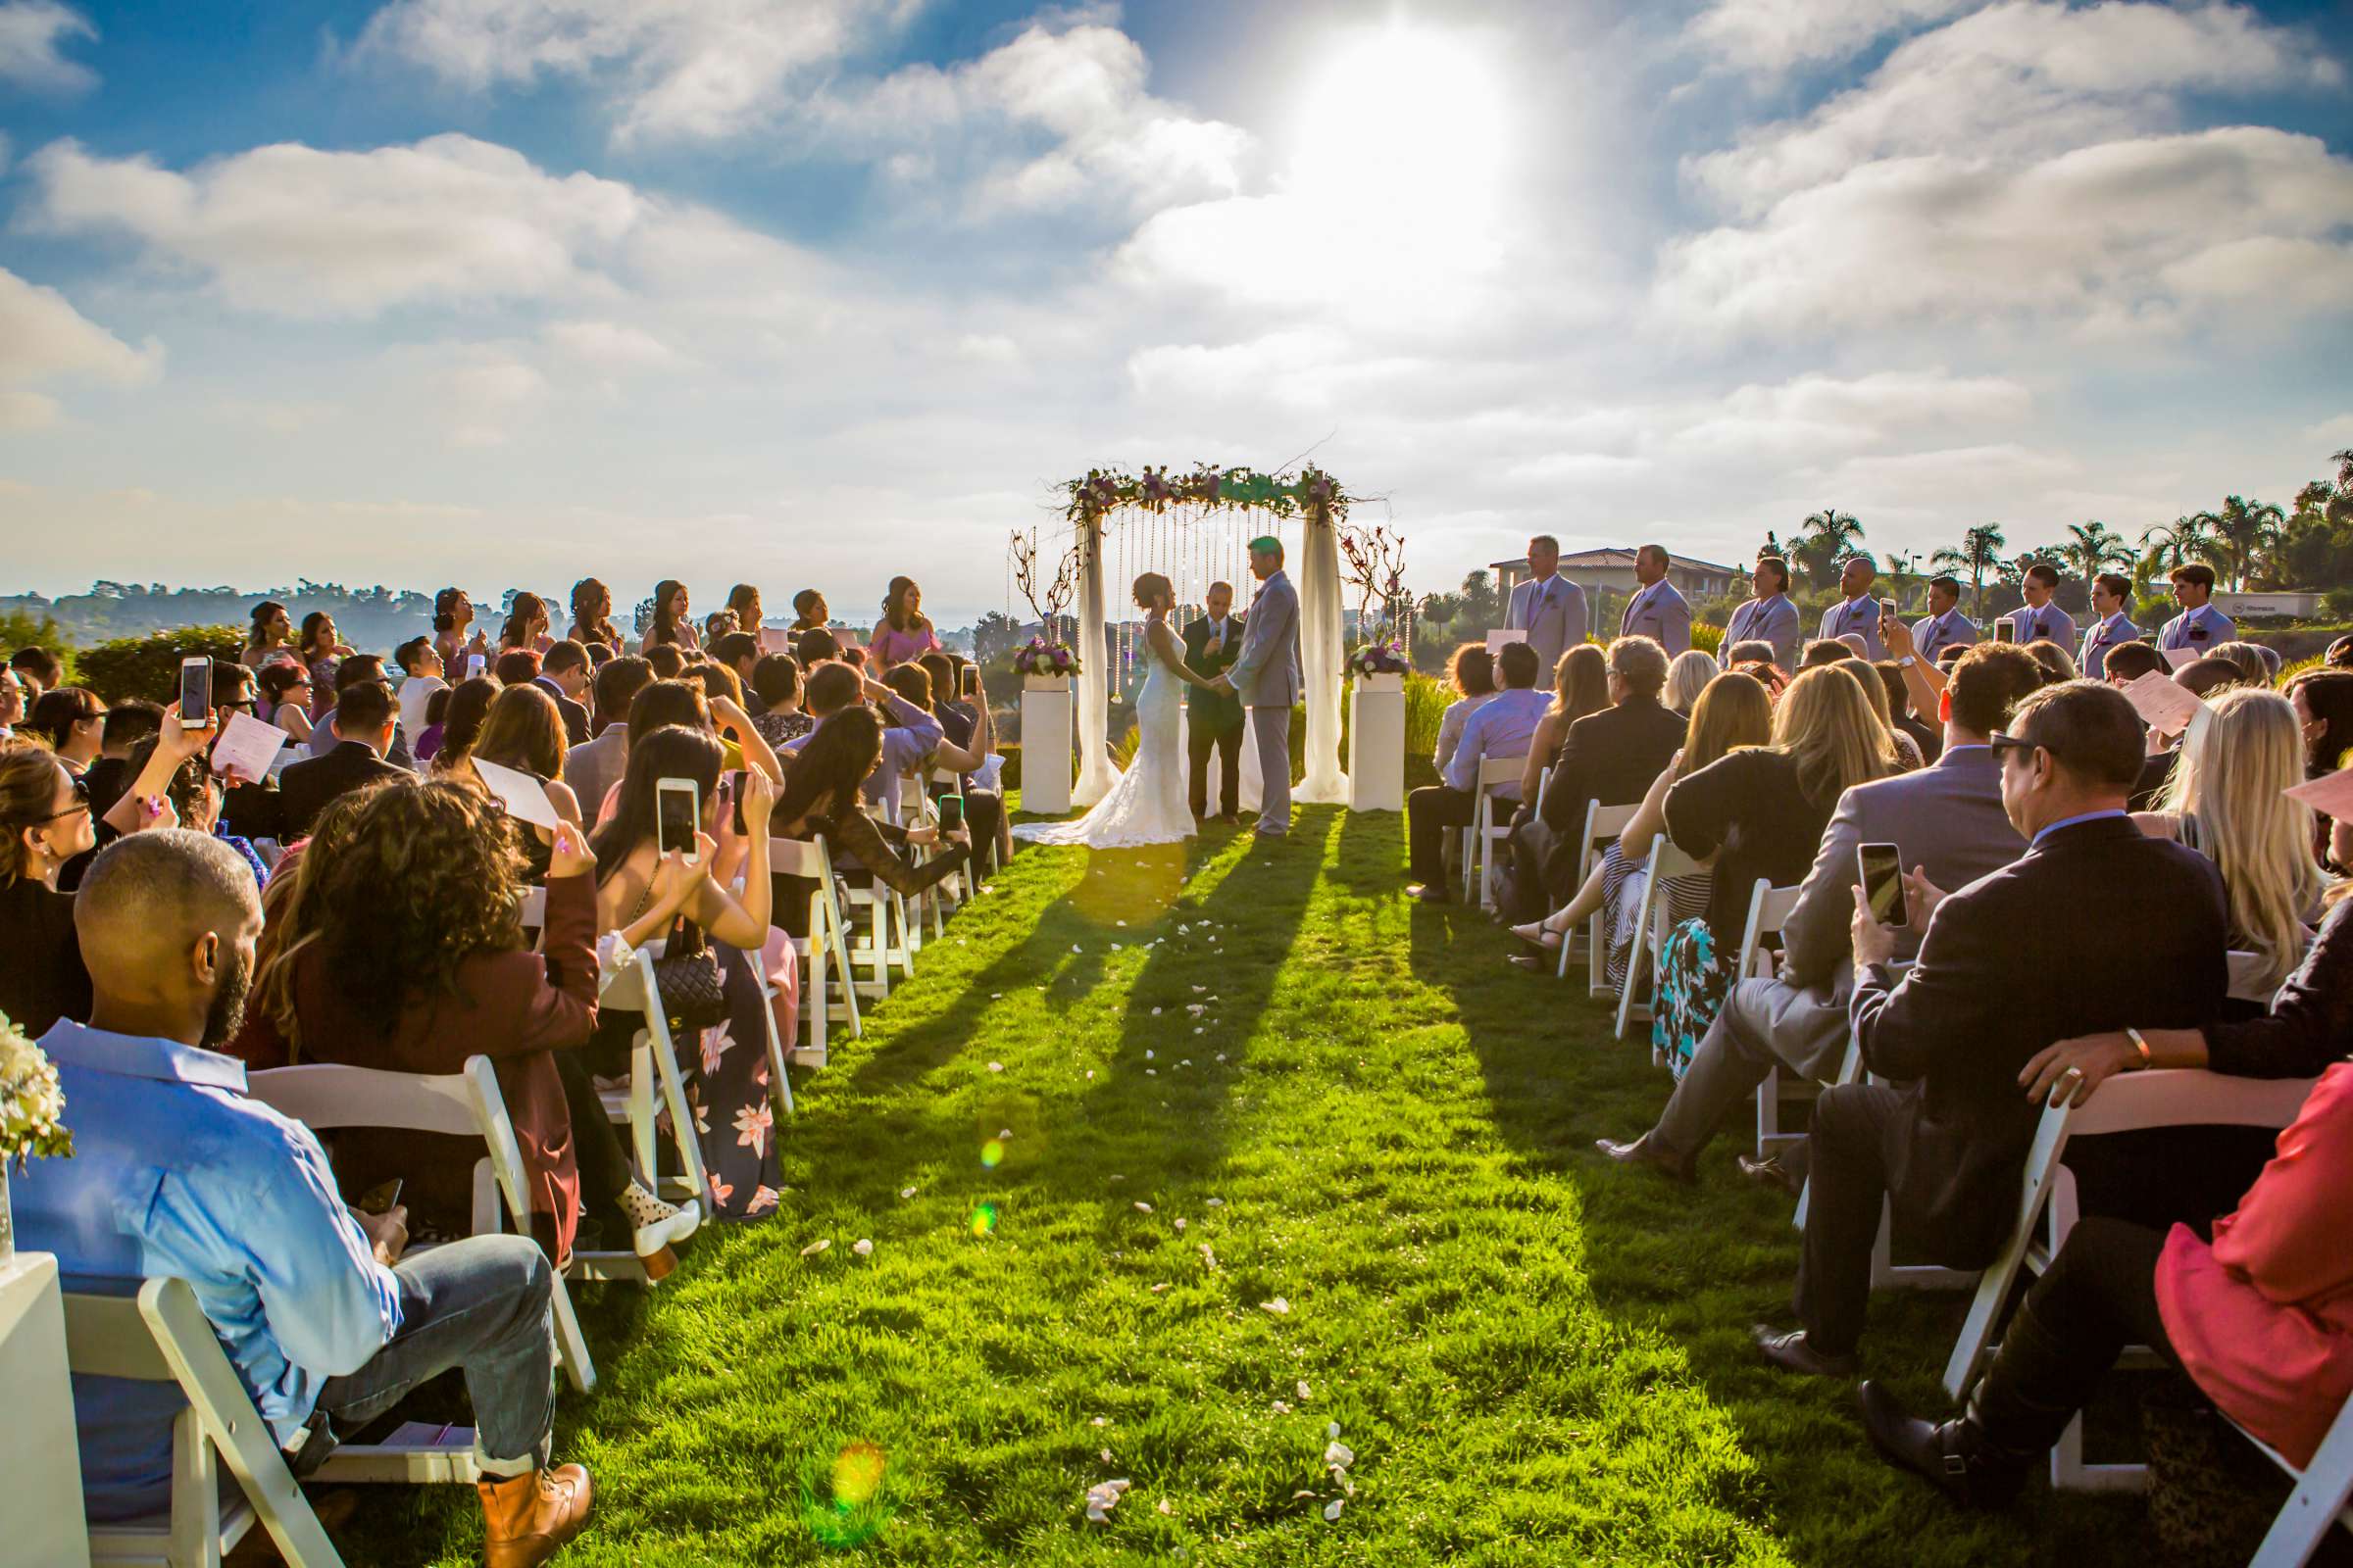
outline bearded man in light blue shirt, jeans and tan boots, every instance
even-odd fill
[[[16,1178],[26,1246],[73,1291],[186,1279],[271,1434],[315,1467],[336,1429],[459,1368],[494,1568],[548,1561],[588,1519],[588,1472],[548,1467],[555,1347],[548,1262],[522,1237],[468,1237],[402,1262],[405,1213],[362,1215],[299,1121],[245,1095],[235,1034],[261,936],[254,875],[214,837],[129,835],[73,907],[89,1023],[42,1048],[73,1107],[73,1159]],[[172,1502],[179,1392],[75,1378],[89,1516]]]

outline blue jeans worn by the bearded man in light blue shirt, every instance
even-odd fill
[[[393,1276],[400,1333],[360,1371],[320,1385],[313,1441],[296,1472],[329,1453],[318,1441],[320,1418],[358,1432],[449,1368],[466,1373],[480,1467],[499,1476],[544,1467],[555,1425],[548,1255],[527,1237],[466,1237],[402,1258]]]

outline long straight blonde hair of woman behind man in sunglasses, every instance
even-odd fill
[[[2231,905],[2231,938],[2264,957],[2264,990],[2304,961],[2304,914],[2320,898],[2313,809],[2282,795],[2304,783],[2304,726],[2275,691],[2235,686],[2207,703],[2181,743],[2158,811],[2198,818]]]

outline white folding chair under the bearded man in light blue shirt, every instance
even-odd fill
[[[292,1568],[341,1568],[341,1554],[301,1495],[271,1425],[221,1352],[186,1279],[148,1279],[136,1298],[68,1291],[64,1305],[66,1366],[75,1375],[174,1382],[188,1401],[172,1420],[169,1512],[92,1523],[92,1563],[219,1568],[221,1556],[259,1523]],[[240,1493],[228,1507],[221,1507],[221,1465]],[[478,1479],[473,1427],[435,1429],[428,1441],[336,1448],[311,1479],[471,1483]],[[38,1500],[19,1497],[19,1505],[38,1507]]]

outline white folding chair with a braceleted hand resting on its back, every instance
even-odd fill
[[[2019,1182],[2019,1218],[2002,1253],[1977,1281],[1977,1300],[1960,1326],[1960,1342],[1944,1363],[1944,1387],[1953,1399],[1969,1387],[1993,1354],[1993,1333],[2012,1288],[2040,1274],[2059,1255],[2075,1227],[2075,1178],[2061,1164],[2068,1138],[2129,1133],[2162,1126],[2268,1126],[2282,1128],[2304,1110],[2318,1079],[2240,1079],[2198,1067],[2127,1072],[2104,1081],[2082,1105],[2045,1107],[2035,1140],[2026,1150]],[[2085,1465],[2082,1418],[2052,1448],[2052,1486],[2068,1490],[2137,1490],[2144,1465]]]

